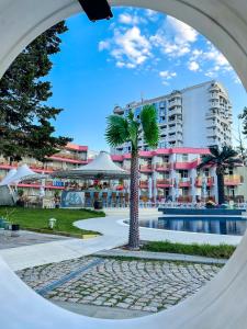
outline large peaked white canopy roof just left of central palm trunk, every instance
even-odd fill
[[[116,166],[111,156],[101,151],[90,163],[72,170],[64,170],[52,173],[53,178],[60,179],[128,179],[130,172]]]

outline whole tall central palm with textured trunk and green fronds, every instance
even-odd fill
[[[145,143],[155,148],[159,140],[157,113],[153,105],[145,105],[139,116],[130,111],[126,117],[110,115],[105,138],[110,146],[116,147],[124,143],[131,144],[131,201],[130,201],[130,234],[128,248],[139,248],[138,226],[138,137],[143,132]]]

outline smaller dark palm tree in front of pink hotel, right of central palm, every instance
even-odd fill
[[[210,147],[210,155],[204,156],[202,162],[198,166],[199,169],[216,167],[218,204],[225,203],[225,170],[234,168],[236,164],[243,164],[243,161],[237,156],[238,152],[229,146],[223,146],[222,149],[216,146]]]

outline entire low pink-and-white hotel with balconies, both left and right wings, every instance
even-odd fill
[[[139,196],[141,200],[193,202],[197,200],[217,201],[217,178],[215,168],[197,169],[202,156],[209,154],[209,148],[159,148],[151,151],[139,151]],[[56,170],[75,169],[87,164],[92,152],[87,146],[68,144],[58,154],[47,158],[42,163],[31,158],[23,158],[19,163],[9,163],[0,157],[0,180],[8,171],[22,164],[27,164],[38,173],[52,173]],[[113,161],[121,168],[131,169],[131,154],[112,155]],[[225,175],[225,193],[228,198],[247,201],[247,168],[229,169]],[[63,191],[71,181],[47,179],[45,181],[46,196],[55,191]],[[83,185],[83,182],[76,182]],[[115,182],[117,184],[117,182]],[[126,182],[127,185],[127,182]],[[125,188],[126,188],[125,185]],[[27,196],[38,196],[41,182],[20,183],[18,188]]]

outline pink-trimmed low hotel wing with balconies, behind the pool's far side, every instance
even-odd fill
[[[160,148],[139,151],[141,198],[217,202],[215,168],[198,170],[202,157],[209,152],[209,148]],[[112,155],[112,159],[122,168],[130,170],[131,154]],[[225,174],[226,198],[247,201],[246,185],[244,185],[246,169],[246,167],[236,167]]]

